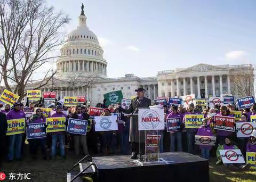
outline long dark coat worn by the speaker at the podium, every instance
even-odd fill
[[[149,98],[144,97],[143,100],[140,101],[140,103],[138,101],[138,97],[133,98],[132,103],[129,106],[129,109],[125,111],[126,113],[132,113],[130,122],[129,141],[145,143],[145,131],[139,131],[138,108],[149,107],[149,105],[151,105],[151,100]],[[134,111],[137,112],[134,113]]]

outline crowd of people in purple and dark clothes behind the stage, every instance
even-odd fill
[[[137,135],[132,131],[134,125],[131,121],[131,112],[134,111],[132,107],[143,107],[142,101],[144,97],[144,90],[137,90],[138,97],[134,98],[135,105],[130,105],[128,110],[124,110],[120,104],[106,105],[106,100],[103,103],[98,103],[96,107],[103,108],[101,115],[108,116],[112,113],[118,113],[118,130],[116,131],[99,131],[94,129],[94,116],[89,115],[90,105],[77,105],[75,111],[71,107],[62,106],[61,103],[56,102],[55,105],[50,105],[52,111],[55,111],[50,117],[66,117],[66,126],[68,119],[80,119],[88,122],[86,135],[69,134],[66,131],[47,133],[46,138],[26,139],[26,134],[16,134],[6,136],[7,121],[9,119],[25,118],[25,112],[32,111],[34,114],[28,120],[29,123],[46,123],[46,119],[42,114],[44,103],[33,104],[27,102],[26,105],[16,102],[12,107],[5,104],[4,109],[0,112],[0,148],[1,159],[12,162],[13,160],[21,160],[25,154],[25,145],[29,146],[29,155],[33,159],[42,156],[44,160],[53,160],[56,155],[58,158],[65,159],[67,152],[74,152],[76,155],[108,155],[108,154],[131,154],[132,159],[137,158],[138,141],[137,143],[131,139]],[[147,98],[147,100],[149,100]],[[145,101],[145,103],[149,101]],[[141,101],[141,102],[140,102]],[[150,101],[151,102],[151,101]],[[137,104],[137,105],[136,105]],[[157,103],[154,103],[157,104]],[[36,110],[35,108],[38,107]],[[227,106],[215,105],[209,106],[195,106],[193,103],[189,104],[187,108],[180,105],[163,105],[166,118],[180,118],[181,127],[177,131],[167,132],[165,130],[159,131],[161,135],[159,139],[159,152],[174,152],[184,151],[191,154],[201,155],[205,159],[210,159],[210,156],[216,157],[216,164],[221,162],[219,150],[236,149],[239,148],[244,156],[246,152],[256,152],[256,130],[248,138],[237,138],[236,132],[214,130],[214,115],[230,116],[230,111],[238,110],[234,104]],[[62,111],[67,111],[68,114]],[[204,114],[202,126],[196,128],[185,128],[186,114]],[[256,104],[251,108],[242,110],[242,115],[237,122],[250,122],[251,115],[256,115]],[[45,127],[47,125],[45,124]],[[138,127],[138,126],[137,126]],[[165,126],[166,127],[166,126]],[[133,132],[133,133],[132,133]],[[216,136],[217,141],[215,146],[195,145],[195,135],[202,136]],[[130,136],[130,140],[129,140]],[[41,155],[38,154],[38,148],[41,148]],[[142,146],[143,147],[143,146]],[[145,147],[145,144],[144,144]],[[142,152],[143,153],[143,152]],[[225,164],[230,170],[241,170],[246,165],[244,164]]]

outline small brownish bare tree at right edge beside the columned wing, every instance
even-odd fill
[[[230,81],[233,85],[234,95],[238,97],[254,95],[255,75],[253,67],[234,73],[230,76]]]

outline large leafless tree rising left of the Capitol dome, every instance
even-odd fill
[[[51,53],[65,43],[60,30],[68,22],[68,16],[54,12],[44,0],[0,0],[1,81],[20,100],[38,68],[59,57]],[[45,72],[34,89],[47,85],[56,73]]]

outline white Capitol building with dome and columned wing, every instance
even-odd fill
[[[41,88],[42,92],[57,92],[64,96],[85,96],[87,104],[95,106],[103,101],[103,94],[122,90],[124,98],[135,96],[138,87],[146,89],[146,96],[154,100],[158,96],[175,97],[195,94],[197,98],[232,94],[230,74],[237,70],[252,68],[246,65],[197,64],[186,69],[158,71],[156,77],[139,78],[133,74],[121,78],[108,78],[108,62],[97,36],[87,26],[82,10],[78,27],[68,35],[56,61],[57,75],[52,86]],[[132,70],[131,70],[132,71]]]

